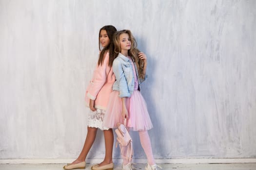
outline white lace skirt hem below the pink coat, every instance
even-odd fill
[[[91,111],[88,115],[88,126],[98,128],[100,130],[109,130],[107,127],[103,127],[102,122],[104,120],[105,110],[97,109],[96,111]]]

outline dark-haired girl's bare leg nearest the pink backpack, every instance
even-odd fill
[[[113,129],[104,130],[104,139],[105,139],[105,158],[103,162],[99,164],[99,166],[108,165],[113,163],[112,160],[112,152],[113,152],[113,144],[114,144],[114,134]]]

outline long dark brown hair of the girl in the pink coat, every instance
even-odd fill
[[[102,49],[101,45],[100,45],[100,31],[101,30],[106,30],[107,34],[108,34],[108,38],[110,39],[110,43]],[[113,61],[114,61],[114,44],[113,44],[113,35],[114,33],[117,31],[117,29],[113,26],[113,25],[106,25],[104,27],[102,27],[99,30],[98,33],[98,49],[100,52],[99,57],[98,57],[98,66],[103,64],[104,61],[104,56],[105,54],[109,51],[109,62],[108,65],[110,67],[112,67],[113,65]],[[101,50],[102,49],[102,50]]]

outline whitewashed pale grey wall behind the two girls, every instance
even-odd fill
[[[0,0],[0,159],[78,156],[108,24],[148,56],[156,158],[256,157],[255,0]]]

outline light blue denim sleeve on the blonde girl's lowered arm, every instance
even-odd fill
[[[122,64],[121,64],[120,61],[114,60],[114,62],[113,62],[113,72],[116,76],[116,81],[117,81],[118,86],[119,86],[119,97],[120,98],[130,97],[131,94],[129,93],[128,85],[127,85],[125,75],[124,75],[124,70],[122,68]]]

